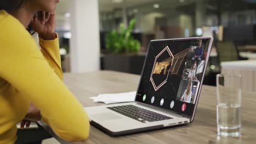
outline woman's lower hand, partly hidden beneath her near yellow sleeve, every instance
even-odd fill
[[[36,122],[41,120],[40,110],[33,104],[30,104],[30,109],[28,109],[27,115],[20,123],[20,128],[30,127],[31,122]]]

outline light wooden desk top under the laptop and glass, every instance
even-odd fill
[[[100,93],[136,91],[139,75],[114,71],[96,71],[83,74],[64,74],[66,85],[84,106],[102,105],[89,97]],[[110,137],[91,127],[90,136],[84,142],[67,142],[54,137],[60,143],[255,143],[256,141],[256,93],[242,95],[242,136],[218,137],[216,127],[216,87],[203,86],[195,121],[183,127],[173,127],[147,133]],[[65,119],[63,119],[65,120]]]

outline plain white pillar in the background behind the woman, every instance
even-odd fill
[[[71,72],[100,69],[100,28],[98,0],[74,0],[71,3]]]

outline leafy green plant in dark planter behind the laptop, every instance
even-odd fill
[[[110,31],[106,37],[106,48],[110,52],[103,57],[103,69],[141,74],[145,55],[138,53],[141,44],[131,35],[135,20],[125,28],[120,24],[120,31]]]

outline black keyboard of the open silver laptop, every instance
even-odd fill
[[[137,121],[142,123],[172,119],[171,117],[161,115],[160,113],[156,113],[146,109],[142,109],[141,107],[134,106],[134,105],[113,106],[113,107],[107,107],[107,109],[118,112],[121,115],[125,115],[127,117],[136,119]]]

